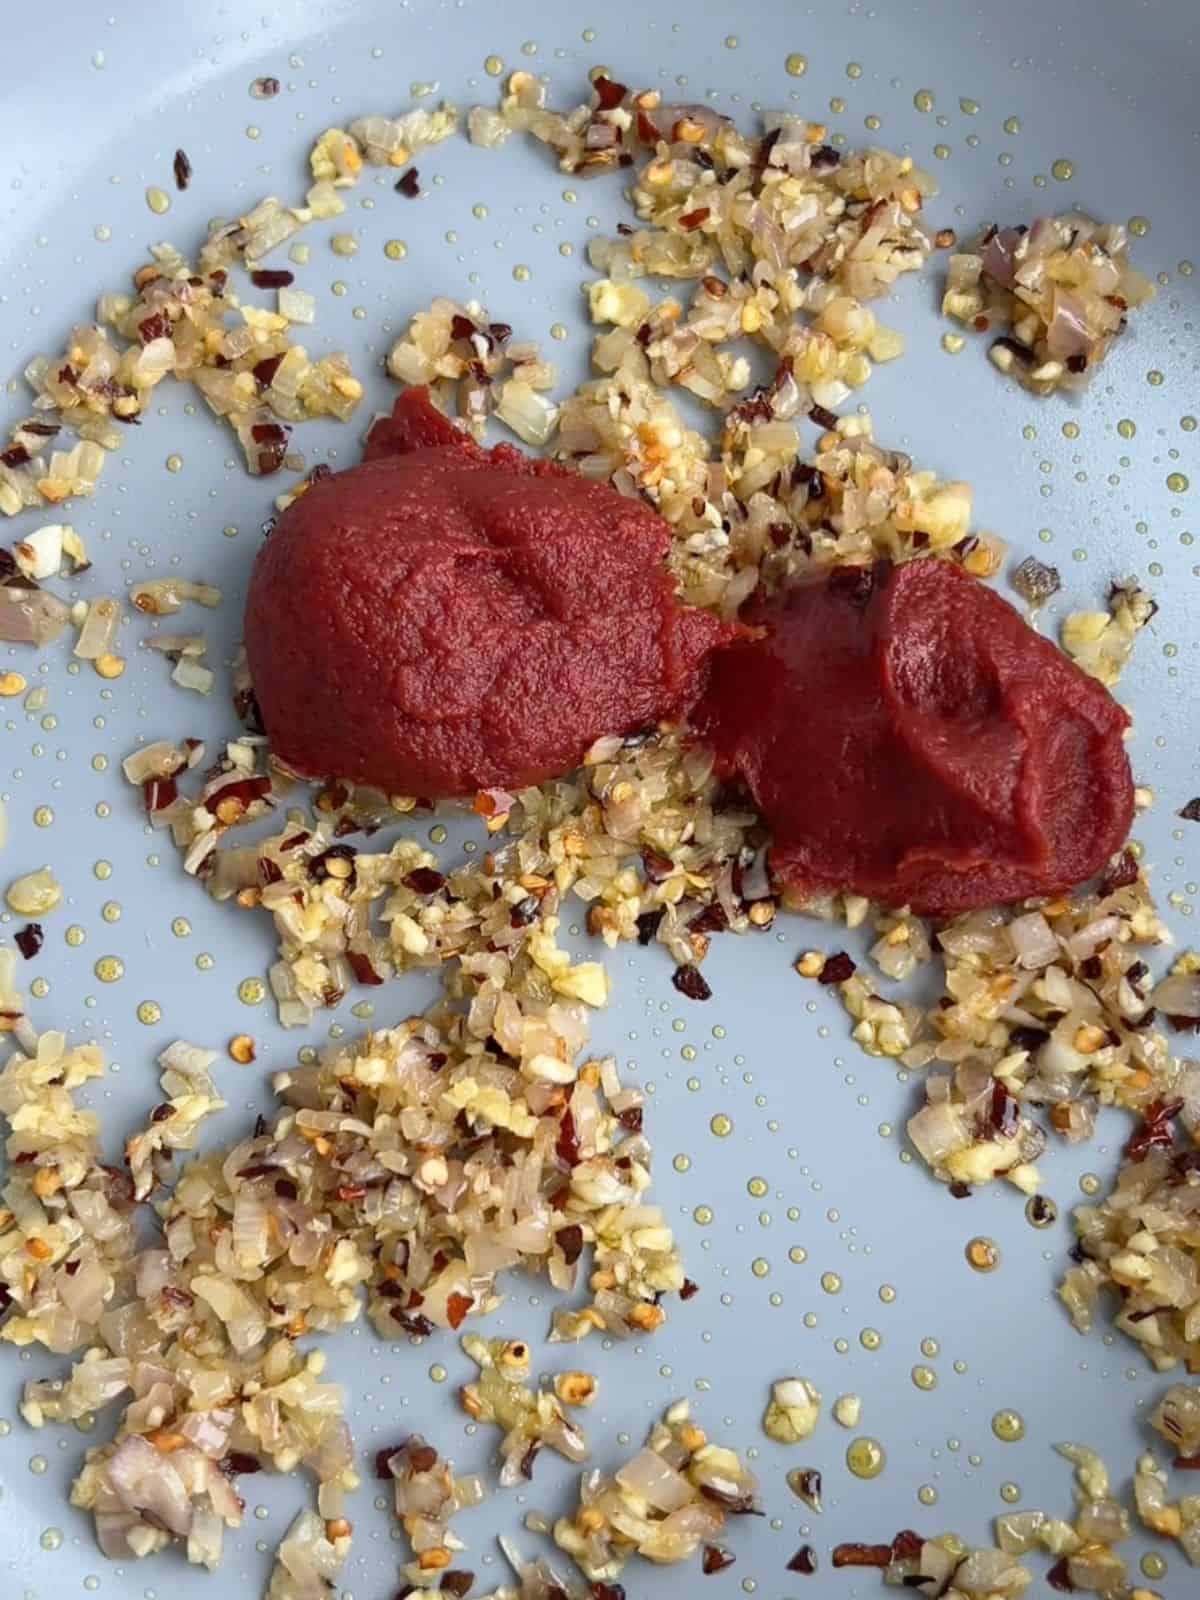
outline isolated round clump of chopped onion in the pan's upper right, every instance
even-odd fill
[[[1130,262],[1120,222],[1043,216],[989,227],[974,251],[950,256],[942,312],[994,339],[992,363],[1038,395],[1080,387],[1104,360],[1126,314],[1154,296]]]

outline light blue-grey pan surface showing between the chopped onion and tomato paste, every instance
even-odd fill
[[[5,11],[6,421],[24,413],[27,358],[58,347],[67,328],[90,315],[98,291],[125,288],[149,243],[166,237],[194,248],[210,216],[230,214],[262,194],[301,192],[317,133],[360,114],[405,109],[410,85],[435,80],[464,106],[494,101],[498,85],[485,72],[493,54],[507,67],[550,74],[563,104],[581,96],[590,66],[606,62],[624,82],[710,98],[747,118],[752,107],[802,109],[851,144],[877,138],[910,150],[942,186],[930,216],[963,234],[979,221],[1029,221],[1069,205],[1110,219],[1149,219],[1136,258],[1160,275],[1158,298],[1134,317],[1082,398],[1030,400],[1000,381],[982,342],[947,355],[934,274],[902,282],[886,309],[886,320],[909,334],[909,352],[877,371],[864,398],[885,442],[974,483],[981,526],[1008,538],[1018,555],[1035,552],[1061,568],[1064,592],[1050,622],[1101,602],[1109,582],[1128,571],[1157,594],[1162,610],[1120,693],[1136,712],[1138,778],[1158,797],[1139,837],[1178,938],[1187,942],[1200,827],[1174,813],[1200,792],[1200,544],[1192,542],[1194,528],[1200,536],[1200,432],[1181,424],[1200,413],[1200,275],[1187,267],[1189,258],[1200,261],[1200,46],[1192,6],[128,0],[109,14],[91,0],[59,0]],[[808,61],[802,77],[784,67],[794,53]],[[261,74],[282,80],[277,99],[250,96]],[[914,104],[920,90],[933,93],[931,112]],[[864,128],[869,117],[878,117],[878,134]],[[171,182],[176,147],[194,166],[184,195]],[[1069,181],[1051,176],[1056,162],[1070,163]],[[395,195],[390,181],[368,181],[344,219],[314,229],[312,261],[299,275],[320,302],[312,346],[350,350],[355,370],[370,374],[366,410],[384,408],[390,390],[379,358],[408,315],[435,293],[478,296],[493,317],[547,346],[550,326],[566,323],[571,339],[554,352],[565,381],[578,381],[587,350],[582,253],[597,226],[611,230],[624,214],[618,181],[563,179],[518,139],[501,154],[453,141],[424,152],[418,165],[422,200]],[[171,194],[170,214],[147,210],[147,186]],[[371,208],[360,210],[360,200]],[[482,205],[486,216],[477,218]],[[334,256],[326,242],[347,227],[362,240],[354,259]],[[408,243],[402,262],[384,256],[390,238]],[[528,277],[514,277],[517,266],[528,267]],[[331,293],[338,282],[344,293]],[[133,578],[178,566],[226,592],[224,608],[205,621],[229,656],[272,490],[235,466],[234,442],[206,416],[184,414],[182,394],[168,386],[160,394],[163,414],[130,432],[98,496],[70,512],[96,562],[78,592],[122,592]],[[1128,429],[1117,432],[1120,419],[1136,424],[1133,438],[1123,437]],[[1064,434],[1067,422],[1078,432]],[[358,429],[309,426],[299,442],[310,459],[328,450],[333,464],[347,464],[357,456]],[[181,458],[176,472],[166,467],[171,456]],[[1168,490],[1176,472],[1190,478],[1190,491]],[[53,518],[26,514],[0,528],[0,539],[45,520]],[[29,978],[50,982],[34,1016],[40,1026],[99,1038],[120,1064],[96,1096],[114,1146],[155,1101],[154,1056],[166,1042],[224,1048],[230,1035],[250,1030],[259,1040],[258,1062],[237,1067],[222,1056],[219,1064],[230,1109],[214,1136],[227,1139],[269,1102],[269,1070],[323,1038],[333,1016],[298,1037],[280,1032],[267,1006],[248,1011],[238,982],[266,968],[269,930],[213,906],[184,878],[170,843],[142,827],[120,776],[134,739],[216,738],[230,723],[222,694],[205,702],[174,690],[162,661],[134,648],[139,632],[126,624],[130,670],[110,691],[88,669],[69,675],[64,650],[42,664],[10,659],[0,648],[0,669],[21,667],[30,682],[50,686],[45,712],[26,715],[19,699],[0,710],[0,790],[11,818],[0,867],[8,880],[48,861],[66,885],[67,904],[46,920],[46,949],[27,968]],[[53,811],[45,829],[35,826],[40,808]],[[112,867],[102,880],[101,861]],[[120,904],[118,922],[104,920],[107,901]],[[192,926],[189,938],[171,931],[179,917]],[[0,922],[0,936],[16,931],[6,914]],[[72,923],[86,933],[78,947],[64,939]],[[1034,1232],[1011,1190],[955,1203],[917,1162],[906,1163],[902,1123],[915,1086],[859,1056],[838,1006],[829,997],[813,1002],[811,987],[790,971],[808,938],[802,923],[782,920],[776,938],[717,941],[706,966],[714,998],[704,1006],[675,994],[666,962],[651,952],[614,958],[616,1002],[600,1019],[598,1043],[635,1064],[650,1090],[658,1197],[702,1293],[672,1309],[669,1326],[646,1347],[582,1349],[584,1365],[602,1379],[590,1414],[597,1459],[613,1464],[667,1402],[690,1395],[712,1432],[757,1456],[768,1510],[765,1520],[733,1530],[738,1565],[728,1573],[701,1579],[696,1568],[680,1576],[635,1566],[627,1574],[634,1600],[709,1589],[744,1589],[763,1600],[875,1594],[875,1574],[829,1571],[835,1541],[886,1539],[904,1526],[955,1528],[982,1539],[1003,1509],[1005,1483],[1019,1485],[1022,1506],[1069,1512],[1069,1469],[1050,1446],[1085,1440],[1128,1478],[1146,1437],[1139,1416],[1162,1387],[1128,1341],[1072,1333],[1053,1298],[1078,1178],[1094,1171],[1107,1179],[1125,1120],[1102,1118],[1096,1144],[1046,1155],[1048,1187],[1062,1210],[1053,1230]],[[208,970],[197,962],[202,954],[211,957]],[[102,955],[123,960],[118,984],[94,978]],[[419,984],[384,990],[378,1014],[405,1014],[426,995]],[[157,1026],[138,1021],[144,1000],[162,1006]],[[338,1022],[357,1026],[349,1002]],[[728,1138],[709,1131],[718,1112],[733,1118]],[[690,1166],[678,1163],[685,1171],[672,1165],[677,1155],[690,1157]],[[765,1179],[765,1197],[747,1190],[752,1178]],[[696,1219],[709,1214],[702,1208],[710,1208],[707,1224]],[[1000,1243],[1002,1266],[990,1277],[965,1264],[973,1234]],[[806,1251],[797,1262],[789,1256],[795,1246]],[[546,1355],[539,1341],[549,1304],[541,1285],[514,1282],[494,1326],[530,1338]],[[878,1333],[877,1349],[864,1347],[875,1344],[866,1330]],[[936,1341],[934,1355],[922,1354],[923,1341]],[[382,1347],[355,1330],[330,1341],[328,1350],[331,1370],[350,1387],[350,1422],[365,1456],[421,1429],[461,1469],[488,1461],[493,1438],[464,1434],[454,1405],[467,1363],[453,1341]],[[450,1374],[440,1387],[429,1376],[437,1362]],[[914,1386],[918,1363],[938,1374],[931,1392]],[[19,1386],[54,1370],[53,1358],[0,1347],[0,1416],[11,1421],[0,1437],[0,1595],[258,1595],[267,1552],[304,1502],[304,1486],[267,1475],[243,1480],[246,1523],[230,1536],[218,1578],[187,1568],[178,1554],[112,1566],[86,1520],[66,1506],[85,1437],[74,1429],[34,1434],[18,1416]],[[862,1395],[861,1430],[888,1451],[882,1477],[864,1483],[848,1474],[850,1435],[829,1418],[798,1450],[762,1435],[770,1379],[789,1371],[813,1378],[827,1400]],[[1024,1442],[1003,1445],[992,1435],[1000,1408],[1026,1418]],[[824,1472],[819,1518],[784,1483],[786,1470],[802,1462]],[[520,1520],[534,1506],[565,1504],[570,1474],[558,1466],[542,1456],[528,1493],[498,1493],[462,1518],[466,1565],[478,1571],[480,1589],[504,1576],[496,1533],[517,1533],[531,1552],[539,1547]],[[918,1502],[923,1485],[938,1504]],[[397,1587],[402,1547],[390,1541],[389,1515],[373,1504],[376,1488],[368,1475],[354,1507],[358,1538],[342,1587],[357,1600],[384,1600]],[[784,1571],[803,1525],[822,1557],[816,1579]],[[1166,1576],[1152,1587],[1170,1600],[1195,1595],[1197,1573],[1173,1550],[1168,1557]]]

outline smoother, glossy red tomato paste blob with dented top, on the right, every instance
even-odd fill
[[[1056,894],[1125,842],[1128,717],[938,560],[837,568],[746,621],[694,715],[773,830],[771,870],[949,915]]]

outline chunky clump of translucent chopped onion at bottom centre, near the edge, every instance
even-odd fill
[[[582,1475],[579,1506],[554,1525],[554,1541],[590,1582],[608,1584],[635,1554],[690,1560],[722,1536],[726,1517],[758,1512],[757,1490],[738,1453],[709,1443],[678,1400],[613,1477]]]

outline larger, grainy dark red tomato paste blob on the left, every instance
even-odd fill
[[[278,760],[440,798],[576,768],[680,715],[734,626],[682,606],[646,506],[413,389],[366,459],[320,478],[259,550],[246,654]]]

